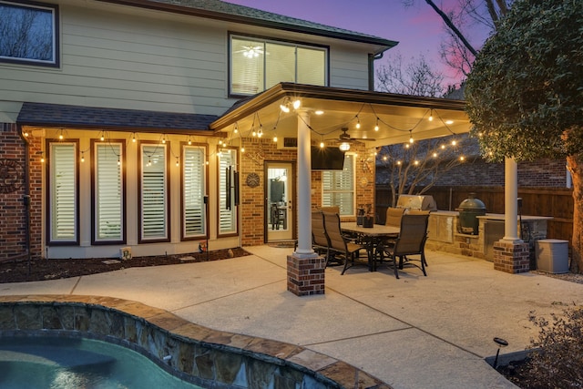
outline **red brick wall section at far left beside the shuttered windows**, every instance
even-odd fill
[[[15,186],[3,187],[0,192],[0,261],[26,252],[26,206],[24,196],[26,194],[26,146],[18,135],[15,124],[3,123],[0,127],[0,159],[11,166],[4,168],[0,174],[14,177],[12,174],[15,166],[17,179]],[[31,253],[34,257],[42,254],[41,250],[41,210],[42,210],[42,167],[38,159],[37,151],[40,150],[40,142],[28,137],[31,142],[29,171],[31,173],[31,205],[30,205],[30,237]]]

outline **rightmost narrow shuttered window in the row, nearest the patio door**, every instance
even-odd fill
[[[229,169],[231,168],[231,169]],[[219,154],[219,235],[237,233],[237,209],[234,204],[232,176],[237,168],[237,150],[223,148]],[[231,187],[229,187],[229,184]]]

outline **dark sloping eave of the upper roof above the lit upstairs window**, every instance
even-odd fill
[[[215,20],[222,20],[225,22],[233,22],[233,23],[240,23],[244,25],[251,25],[251,26],[260,26],[260,27],[268,27],[274,28],[283,31],[289,31],[293,33],[302,33],[302,34],[310,34],[316,36],[323,36],[328,38],[335,38],[335,39],[342,39],[352,42],[358,43],[366,43],[370,45],[377,45],[382,46],[378,50],[376,50],[373,54],[381,54],[384,51],[388,50],[391,47],[394,47],[398,44],[398,42],[384,39],[380,37],[374,36],[359,36],[359,35],[352,35],[343,32],[330,32],[330,31],[323,31],[318,28],[309,27],[309,26],[293,26],[288,23],[281,23],[281,22],[274,22],[270,20],[262,20],[248,16],[242,15],[230,15],[226,13],[214,12],[200,8],[190,8],[183,5],[172,5],[172,4],[165,4],[165,3],[155,3],[146,0],[97,0],[103,3],[112,3],[117,5],[128,5],[134,6],[139,8],[147,8],[157,11],[165,11],[171,12],[175,14],[182,14],[182,15],[190,15],[190,16],[199,16],[199,17],[206,17],[209,19]]]

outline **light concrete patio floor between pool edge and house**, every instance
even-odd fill
[[[351,363],[401,388],[511,388],[484,360],[494,337],[523,351],[549,317],[583,304],[583,284],[494,271],[491,262],[428,251],[427,277],[382,266],[326,269],[323,295],[286,290],[292,249],[246,247],[253,255],[129,268],[46,282],[0,285],[0,295],[77,294],[143,302],[213,329],[286,343]]]

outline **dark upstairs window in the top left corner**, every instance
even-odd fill
[[[58,67],[58,5],[0,0],[0,61]]]

